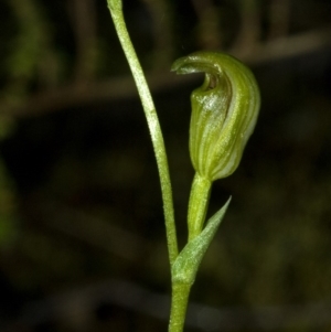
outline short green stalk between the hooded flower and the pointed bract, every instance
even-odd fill
[[[188,213],[189,242],[196,237],[203,228],[205,215],[209,206],[212,182],[199,173],[195,173]]]

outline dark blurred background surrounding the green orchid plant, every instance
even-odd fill
[[[192,290],[186,331],[331,331],[331,2],[124,1],[169,153],[180,245],[196,50],[254,73],[261,109]],[[167,331],[149,133],[106,0],[0,4],[0,330]]]

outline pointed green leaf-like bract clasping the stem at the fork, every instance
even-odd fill
[[[207,222],[205,228],[190,240],[173,263],[172,282],[193,285],[201,260],[225,215],[231,199]]]

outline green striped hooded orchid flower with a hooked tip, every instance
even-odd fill
[[[191,95],[191,160],[204,179],[228,176],[239,164],[259,111],[253,73],[229,55],[210,52],[181,57],[171,69],[178,74],[205,73],[203,85]]]

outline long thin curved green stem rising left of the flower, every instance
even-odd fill
[[[141,99],[143,111],[147,118],[149,131],[151,135],[151,140],[154,149],[154,154],[158,163],[162,200],[163,200],[163,210],[166,218],[166,229],[167,229],[167,243],[169,250],[169,260],[170,266],[178,256],[178,243],[177,243],[177,232],[174,224],[174,212],[173,212],[173,201],[172,201],[172,190],[169,174],[169,167],[166,153],[166,147],[163,142],[162,131],[160,128],[158,115],[153,100],[146,82],[141,65],[137,57],[135,47],[131,43],[124,14],[120,0],[107,0],[108,8],[119,38],[120,44],[125,52],[125,55],[128,60],[132,76],[135,78],[138,93]]]

